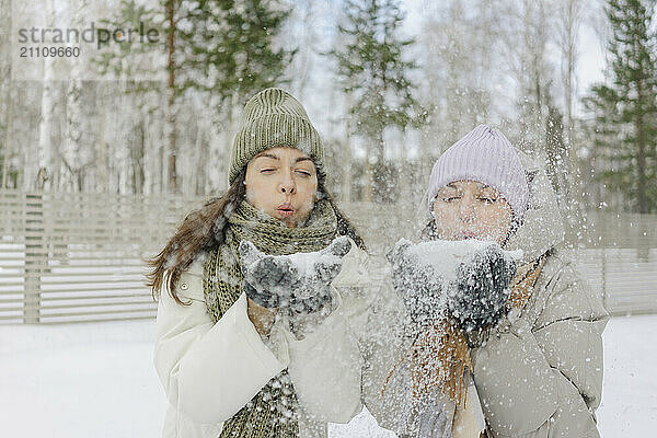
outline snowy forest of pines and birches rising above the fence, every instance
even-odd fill
[[[11,1],[1,3],[1,50],[9,54],[18,43],[8,35]],[[14,15],[28,3],[14,1]],[[141,23],[161,37],[157,47],[96,50],[84,66],[93,80],[73,77],[74,65],[64,74],[48,58],[42,78],[22,80],[3,55],[5,188],[220,194],[241,107],[279,85],[318,125],[338,199],[417,201],[433,161],[491,123],[544,157],[564,208],[657,211],[654,1],[37,7],[50,27]],[[145,62],[147,50],[157,55]]]

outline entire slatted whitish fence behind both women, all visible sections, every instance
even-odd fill
[[[153,318],[143,258],[204,200],[0,192],[0,323]],[[350,203],[344,210],[374,251],[412,228],[412,209]],[[657,312],[656,229],[657,216],[595,216],[575,252],[615,314]]]

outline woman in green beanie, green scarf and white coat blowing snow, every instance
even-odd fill
[[[325,437],[362,407],[348,302],[371,280],[290,94],[249,101],[229,182],[150,261],[163,436]]]

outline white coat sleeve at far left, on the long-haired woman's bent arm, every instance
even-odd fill
[[[177,293],[191,304],[178,304],[168,291],[160,296],[155,370],[173,406],[198,423],[221,423],[287,367],[287,350],[274,348],[276,355],[263,342],[244,295],[214,324],[200,274],[185,272]]]

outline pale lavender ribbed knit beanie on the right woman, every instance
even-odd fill
[[[525,216],[529,200],[525,169],[516,150],[498,129],[480,125],[440,155],[429,178],[429,211],[438,189],[459,180],[473,180],[496,188],[509,203],[516,218]]]

